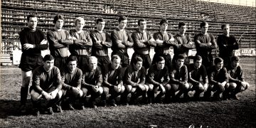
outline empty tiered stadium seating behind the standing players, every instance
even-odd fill
[[[95,28],[96,18],[105,18],[105,30],[110,32],[117,26],[119,16],[128,16],[127,29],[137,28],[138,18],[146,18],[148,30],[159,30],[161,18],[169,19],[169,31],[176,33],[178,22],[188,23],[188,34],[193,37],[200,32],[199,23],[208,21],[209,32],[217,37],[220,26],[230,23],[231,34],[240,38],[241,48],[255,48],[255,7],[209,3],[195,0],[2,0],[1,1],[1,53],[11,54],[20,49],[18,33],[26,27],[26,16],[38,14],[38,28],[47,32],[53,28],[56,14],[65,16],[64,28],[73,28],[76,17],[85,18],[85,29]]]

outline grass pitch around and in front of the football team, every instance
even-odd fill
[[[1,67],[0,127],[255,127],[255,57],[241,59],[250,88],[238,94],[240,100],[97,107],[38,117],[18,114],[21,70]],[[28,100],[28,111],[31,106]]]

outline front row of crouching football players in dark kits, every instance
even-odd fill
[[[79,101],[77,108],[80,110],[85,109],[85,105],[96,108],[95,100],[100,96],[103,107],[107,107],[107,103],[116,107],[119,95],[123,105],[134,104],[139,96],[142,96],[143,104],[161,103],[163,95],[165,103],[176,102],[181,95],[184,101],[188,101],[188,92],[193,90],[196,91],[193,94],[195,100],[199,100],[202,92],[205,100],[210,99],[211,92],[214,92],[214,100],[238,100],[236,94],[249,87],[244,81],[237,56],[231,58],[232,63],[226,68],[223,67],[222,58],[215,58],[215,65],[208,72],[201,65],[202,58],[199,55],[188,65],[184,65],[185,57],[178,55],[171,69],[165,66],[164,58],[159,56],[147,74],[140,57],[135,57],[124,73],[121,73],[121,59],[118,55],[112,55],[111,63],[102,70],[97,66],[97,58],[94,56],[90,56],[87,68],[82,68],[83,70],[77,68],[78,59],[72,55],[68,57],[67,66],[62,70],[53,65],[52,55],[46,55],[43,60],[44,65],[34,72],[30,89],[35,114],[63,112],[61,106],[65,106],[67,110],[75,110],[73,104],[76,100]],[[128,103],[129,93],[131,97]],[[221,94],[223,97],[220,97]],[[107,102],[108,95],[110,97]],[[62,101],[65,101],[64,105],[61,104]]]

